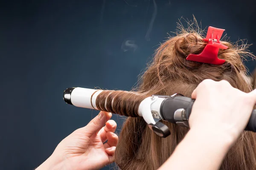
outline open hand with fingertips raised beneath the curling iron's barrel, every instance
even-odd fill
[[[114,133],[116,122],[109,120],[111,116],[100,112],[88,125],[63,139],[36,170],[97,170],[113,162],[118,136]]]

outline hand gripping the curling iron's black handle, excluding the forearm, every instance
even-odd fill
[[[223,134],[234,143],[249,121],[256,91],[247,94],[225,80],[206,79],[193,91],[192,98],[196,100],[189,117],[190,129]]]

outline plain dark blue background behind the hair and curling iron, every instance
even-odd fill
[[[1,170],[37,167],[96,116],[67,105],[66,88],[130,90],[180,17],[194,14],[203,28],[224,28],[232,41],[255,42],[253,0],[155,2],[148,41],[154,0],[0,1]],[[252,71],[255,62],[246,65]],[[122,119],[113,117],[120,129]]]

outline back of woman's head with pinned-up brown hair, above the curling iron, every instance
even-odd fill
[[[220,48],[218,52],[218,58],[226,60],[223,65],[186,60],[189,54],[203,51],[207,45],[203,38],[201,32],[191,28],[182,28],[177,36],[169,37],[157,48],[153,62],[143,74],[139,91],[162,91],[160,93],[166,92],[168,95],[175,92],[190,96],[204,79],[226,79],[233,87],[248,92],[250,87],[244,89],[248,83],[242,60],[253,55],[246,51],[246,46],[221,41],[228,46],[228,49]],[[173,88],[177,91],[173,91]]]

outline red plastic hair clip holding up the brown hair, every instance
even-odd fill
[[[225,60],[218,58],[218,51],[219,48],[228,48],[226,45],[223,45],[220,42],[221,36],[224,31],[224,29],[209,26],[207,36],[203,39],[204,41],[208,42],[204,50],[201,52],[201,54],[189,54],[186,59],[190,61],[204,62],[215,65],[223,64]]]

